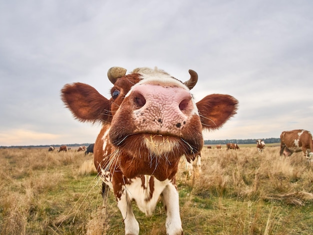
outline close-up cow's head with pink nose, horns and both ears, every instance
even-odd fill
[[[109,69],[110,99],[79,82],[66,84],[61,96],[78,120],[110,123],[109,142],[118,150],[119,166],[127,177],[172,177],[180,156],[190,161],[200,152],[202,129],[219,128],[235,114],[238,102],[230,95],[211,94],[194,102],[190,89],[197,73],[193,70],[186,82],[157,68],[125,73],[120,67]],[[130,167],[136,170],[127,173]]]

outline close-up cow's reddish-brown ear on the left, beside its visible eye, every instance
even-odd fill
[[[90,85],[76,82],[65,84],[61,99],[79,121],[110,121],[109,100]]]

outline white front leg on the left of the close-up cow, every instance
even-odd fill
[[[117,198],[117,207],[119,208],[124,224],[125,224],[125,234],[127,235],[137,235],[139,234],[139,223],[137,222],[133,212],[131,201],[127,196],[127,189],[123,187],[123,192],[121,193],[120,198]]]

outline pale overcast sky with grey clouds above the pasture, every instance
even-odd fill
[[[0,1],[0,146],[92,143],[98,124],[60,100],[83,82],[109,98],[106,73],[157,66],[196,101],[234,96],[237,114],[204,139],[313,131],[311,0]]]

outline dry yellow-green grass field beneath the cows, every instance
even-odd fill
[[[201,173],[181,161],[184,234],[313,233],[313,171],[301,153],[222,147],[203,148]],[[0,188],[0,234],[124,234],[112,192],[102,204],[92,154],[0,149]],[[133,208],[140,234],[165,233],[161,202],[151,217]]]

